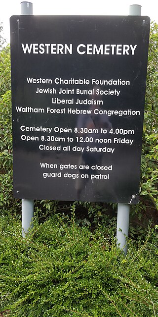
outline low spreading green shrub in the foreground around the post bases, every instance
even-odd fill
[[[9,317],[156,317],[158,235],[130,242],[127,257],[107,237],[56,215],[24,239],[0,219],[0,310]],[[8,310],[8,311],[7,311]]]

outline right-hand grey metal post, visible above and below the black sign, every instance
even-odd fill
[[[129,15],[141,15],[141,5],[132,4],[129,6]],[[129,229],[129,211],[130,205],[118,204],[118,218],[117,218],[117,244],[124,254],[127,254],[127,241]]]

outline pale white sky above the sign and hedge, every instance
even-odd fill
[[[158,0],[32,0],[34,15],[128,15],[129,5],[142,6],[142,15],[158,23]],[[20,0],[5,0],[0,9],[3,37],[10,43],[9,18],[21,14]]]

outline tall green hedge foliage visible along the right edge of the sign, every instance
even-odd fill
[[[146,206],[158,210],[158,24],[151,24],[149,43],[141,195]]]

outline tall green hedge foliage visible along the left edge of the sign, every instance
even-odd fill
[[[16,214],[12,197],[12,124],[11,124],[10,47],[0,52],[0,209]]]

